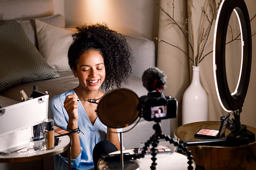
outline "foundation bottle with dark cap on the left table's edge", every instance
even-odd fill
[[[45,144],[46,149],[50,150],[54,148],[54,120],[47,119],[46,122],[46,129],[45,129]]]

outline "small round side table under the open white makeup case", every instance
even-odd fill
[[[37,150],[33,153],[24,152],[19,153],[15,152],[10,155],[0,155],[0,162],[4,163],[13,163],[13,162],[28,162],[40,160],[48,157],[52,157],[58,154],[61,154],[68,150],[68,159],[69,159],[69,169],[71,169],[71,138],[69,135],[59,137],[58,145],[51,150]]]

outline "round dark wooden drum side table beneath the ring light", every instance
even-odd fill
[[[178,127],[175,138],[183,141],[200,140],[194,134],[201,128],[219,130],[220,122],[196,122]],[[247,129],[256,133],[256,129],[247,126]],[[229,134],[227,129],[225,135]],[[250,152],[256,155],[256,142],[238,147],[210,147],[206,145],[188,147],[196,162],[197,169],[255,169],[256,162]]]

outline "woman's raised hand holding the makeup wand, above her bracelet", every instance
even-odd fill
[[[76,94],[68,95],[66,100],[64,101],[64,108],[66,109],[69,115],[69,122],[72,123],[77,122],[78,119],[78,109],[77,109],[77,96]]]

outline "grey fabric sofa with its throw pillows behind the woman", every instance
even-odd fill
[[[54,14],[53,9],[52,0],[0,1],[1,107],[21,102],[20,91],[29,96],[33,86],[38,91],[47,91],[51,99],[78,85],[67,59],[75,30],[67,28],[65,18]],[[155,44],[143,37],[123,36],[132,48],[134,62],[129,82],[122,87],[138,96],[146,95],[141,76],[144,70],[155,66]],[[153,135],[153,124],[142,118],[134,129],[123,133],[124,148],[139,147],[139,142]],[[169,120],[161,124],[169,135]]]

